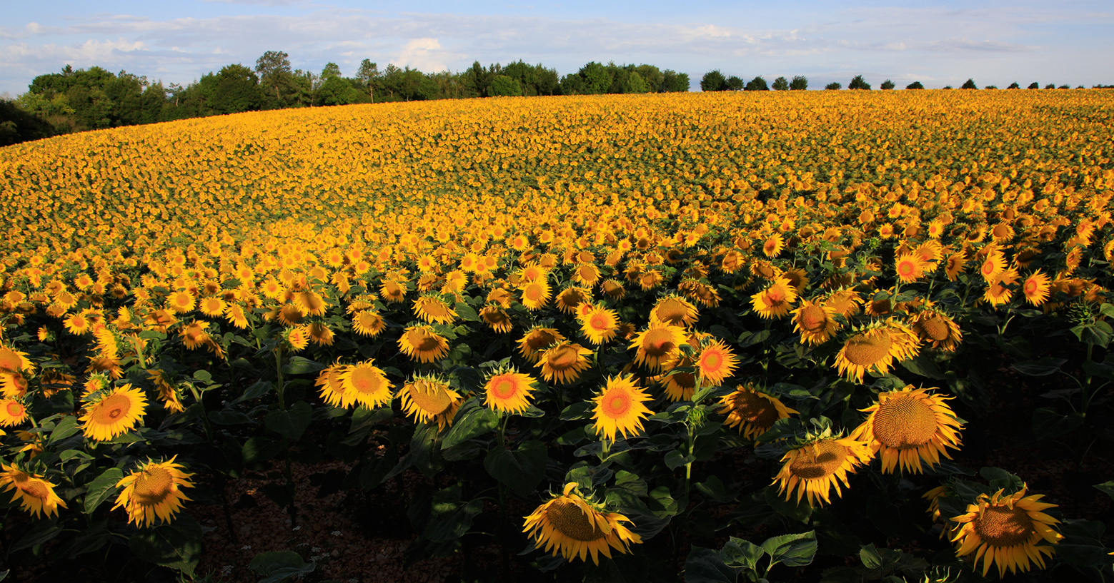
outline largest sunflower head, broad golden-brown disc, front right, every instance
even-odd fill
[[[919,474],[921,461],[934,466],[940,463],[940,454],[951,458],[945,447],[959,448],[962,424],[946,398],[911,385],[881,393],[878,403],[862,409],[870,415],[851,437],[881,453],[882,473],[893,473],[900,465],[902,472]]]

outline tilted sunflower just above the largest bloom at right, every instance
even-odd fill
[[[917,356],[919,343],[917,334],[897,320],[871,324],[843,343],[836,355],[836,367],[848,381],[862,383],[867,370],[885,375],[895,359],[900,363]]]

